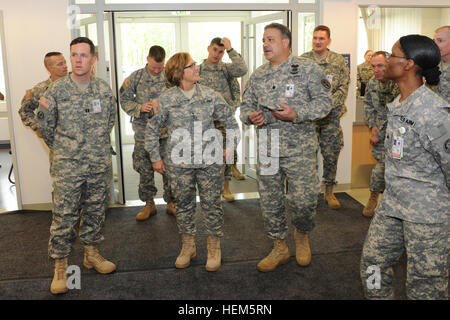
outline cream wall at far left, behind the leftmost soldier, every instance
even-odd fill
[[[50,203],[51,182],[48,151],[34,132],[23,126],[17,111],[25,90],[49,76],[43,65],[44,55],[60,51],[68,60],[67,3],[62,0],[0,0],[10,88],[11,143],[16,156],[15,180],[20,186],[19,200],[25,207]]]

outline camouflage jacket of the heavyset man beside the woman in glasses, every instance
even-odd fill
[[[250,77],[242,99],[241,121],[251,125],[249,114],[262,110],[265,123],[258,127],[258,134],[263,129],[278,129],[279,156],[299,156],[302,148],[317,148],[312,121],[324,118],[333,108],[330,87],[323,71],[309,59],[289,56],[279,66],[266,63]],[[275,118],[266,108],[279,106],[280,102],[295,110],[295,123]]]

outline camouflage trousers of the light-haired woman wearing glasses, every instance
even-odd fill
[[[221,195],[224,183],[224,166],[211,165],[204,168],[170,166],[166,169],[175,197],[179,233],[195,235],[197,232],[195,208],[198,188],[206,233],[211,236],[222,237],[223,208]]]

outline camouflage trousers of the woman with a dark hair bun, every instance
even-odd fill
[[[368,299],[394,299],[393,266],[406,248],[409,299],[448,299],[448,221],[420,224],[375,213],[361,256],[361,280]],[[380,271],[380,287],[369,287],[370,266]]]

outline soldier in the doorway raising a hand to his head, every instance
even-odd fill
[[[227,51],[231,63],[222,62],[224,51]],[[208,46],[208,58],[200,65],[200,84],[208,86],[220,93],[227,104],[233,108],[233,114],[241,102],[241,92],[239,82],[236,78],[247,73],[247,65],[241,55],[231,46],[228,38],[214,38]],[[226,141],[226,131],[224,126],[214,120],[217,129],[222,132],[224,142]],[[225,147],[225,146],[224,146]],[[234,163],[225,165],[225,183],[222,196],[228,202],[234,200],[234,195],[230,191],[230,180],[233,175],[238,180],[245,177],[236,167],[237,153],[234,154]]]

